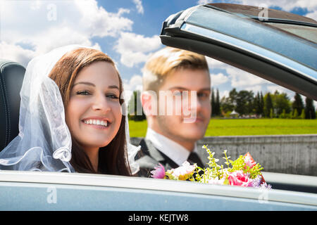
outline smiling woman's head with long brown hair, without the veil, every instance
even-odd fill
[[[78,172],[130,174],[125,160],[120,160],[127,157],[125,117],[120,111],[123,88],[111,58],[94,49],[75,49],[58,60],[49,77],[64,100],[73,167]],[[99,153],[99,148],[108,150]]]

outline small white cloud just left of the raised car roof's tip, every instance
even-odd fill
[[[161,41],[158,35],[144,37],[132,32],[121,32],[114,49],[120,53],[120,63],[132,67],[138,63],[144,63],[151,51],[159,49]]]

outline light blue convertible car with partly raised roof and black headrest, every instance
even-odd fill
[[[316,21],[271,9],[267,18],[260,15],[261,9],[253,6],[195,6],[166,19],[161,41],[223,61],[317,100]],[[25,68],[1,60],[0,72],[3,149],[18,135],[19,92]],[[263,176],[272,189],[2,170],[0,210],[317,210],[316,176],[272,172],[263,172]],[[152,219],[162,218],[166,219]],[[180,221],[187,217],[173,218]],[[131,212],[120,219],[128,222],[137,217]]]

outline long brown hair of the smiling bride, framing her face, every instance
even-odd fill
[[[116,68],[113,60],[106,54],[95,49],[80,48],[66,53],[51,70],[49,77],[56,82],[63,99],[64,108],[67,109],[70,91],[77,74],[89,65],[97,61],[111,63]],[[119,78],[120,96],[123,92],[122,80],[116,69]],[[125,104],[120,98],[120,105]],[[67,121],[66,121],[67,123]],[[92,167],[85,150],[72,136],[72,158],[70,164],[76,172],[102,173],[130,176],[128,165],[128,153],[125,139],[125,116],[122,116],[120,128],[114,139],[107,146],[99,148],[98,171]]]

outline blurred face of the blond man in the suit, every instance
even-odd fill
[[[168,75],[158,93],[156,131],[178,143],[204,137],[211,117],[210,84],[207,70]]]

